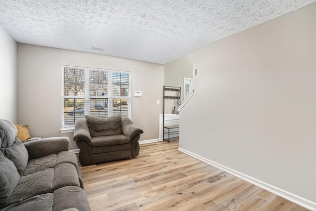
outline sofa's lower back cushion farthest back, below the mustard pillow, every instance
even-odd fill
[[[14,163],[18,173],[22,176],[29,160],[29,153],[24,144],[18,138],[15,138],[11,146],[0,150],[5,157]]]

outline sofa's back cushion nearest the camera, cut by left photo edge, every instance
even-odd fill
[[[13,162],[0,152],[0,209],[5,207],[19,179],[20,175]]]

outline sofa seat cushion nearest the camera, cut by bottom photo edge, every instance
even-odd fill
[[[77,186],[67,186],[52,193],[33,196],[12,204],[0,211],[63,211],[74,209],[90,211],[84,191]]]

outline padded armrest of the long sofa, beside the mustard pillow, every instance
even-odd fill
[[[68,137],[42,138],[33,141],[23,142],[29,153],[29,159],[40,158],[50,154],[57,154],[61,151],[68,151]]]

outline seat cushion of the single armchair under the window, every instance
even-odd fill
[[[97,137],[91,138],[91,147],[127,144],[129,142],[130,142],[130,139],[127,136],[122,135],[122,134],[97,136]]]

